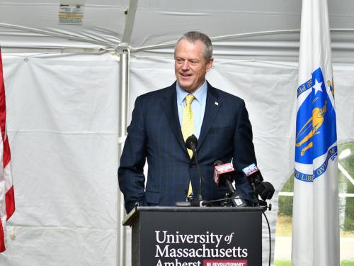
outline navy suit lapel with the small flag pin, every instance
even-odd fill
[[[222,105],[221,102],[217,101],[218,97],[219,94],[217,93],[217,90],[213,88],[208,82],[207,102],[205,104],[205,113],[204,113],[204,118],[202,119],[202,128],[200,130],[197,150],[200,149],[200,146],[202,145],[207,133],[212,127],[212,124],[215,121],[217,113],[219,112],[220,106]]]

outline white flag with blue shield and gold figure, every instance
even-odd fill
[[[339,258],[336,111],[326,0],[302,0],[292,265]]]

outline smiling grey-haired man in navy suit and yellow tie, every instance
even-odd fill
[[[176,201],[186,200],[190,187],[193,194],[200,193],[200,174],[192,153],[185,148],[190,133],[198,138],[202,198],[225,197],[227,188],[218,187],[212,178],[214,162],[221,160],[233,162],[237,192],[252,199],[251,186],[241,173],[256,163],[249,116],[242,99],[206,81],[212,63],[210,38],[199,32],[185,33],[175,48],[176,82],[137,97],[118,169],[127,212],[137,204],[175,206]]]

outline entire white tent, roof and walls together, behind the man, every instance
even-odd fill
[[[84,3],[82,25],[58,23],[65,2]],[[122,124],[139,94],[174,81],[173,46],[192,30],[215,47],[207,79],[246,101],[258,166],[277,189],[267,213],[274,240],[278,192],[293,171],[300,13],[298,0],[0,1],[17,208],[0,264],[129,261],[116,172]],[[354,2],[329,0],[329,13],[343,143],[354,139]]]

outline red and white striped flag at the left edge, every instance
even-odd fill
[[[11,175],[11,155],[10,146],[6,134],[6,103],[5,87],[3,78],[2,58],[0,50],[0,253],[5,250],[4,229],[8,218],[15,211],[15,197],[13,194],[13,184]]]

